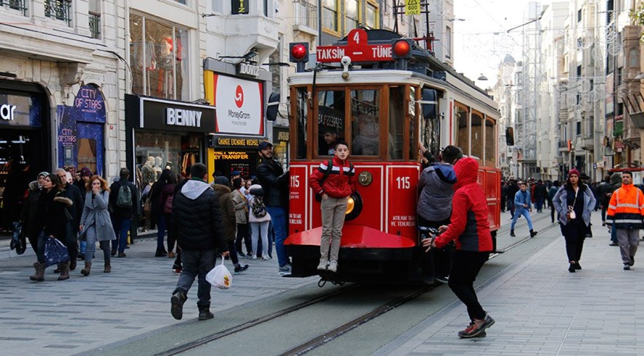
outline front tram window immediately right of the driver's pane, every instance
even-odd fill
[[[351,154],[377,156],[380,145],[380,92],[351,91]]]

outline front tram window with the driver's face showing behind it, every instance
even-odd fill
[[[317,154],[333,155],[336,142],[345,136],[345,92],[317,93]]]

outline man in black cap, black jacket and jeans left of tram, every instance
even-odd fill
[[[278,254],[279,273],[290,274],[289,258],[286,256],[284,241],[287,238],[287,216],[289,211],[289,171],[273,159],[273,145],[262,141],[257,147],[261,164],[257,167],[257,178],[264,192],[266,211],[275,232],[275,251]]]

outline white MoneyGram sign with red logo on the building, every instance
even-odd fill
[[[264,135],[263,84],[214,74],[216,133]]]

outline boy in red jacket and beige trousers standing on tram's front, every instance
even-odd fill
[[[337,272],[337,254],[340,250],[342,227],[345,225],[346,201],[355,192],[357,177],[349,163],[349,145],[336,143],[332,161],[324,161],[308,177],[308,184],[321,196],[322,237],[320,239],[320,264],[317,270]],[[329,164],[330,163],[330,164]],[[329,250],[330,240],[330,250]]]

